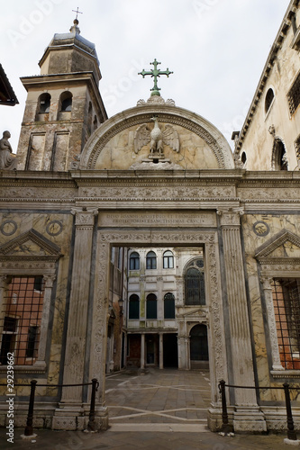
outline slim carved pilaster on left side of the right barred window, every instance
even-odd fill
[[[272,369],[284,371],[285,368],[281,365],[280,356],[279,356],[277,328],[276,328],[273,293],[272,293],[272,286],[271,286],[272,278],[269,278],[268,276],[266,276],[266,277],[264,276],[264,277],[260,278],[260,282],[263,285],[266,307],[267,307],[268,333],[269,333],[271,355],[272,355]]]

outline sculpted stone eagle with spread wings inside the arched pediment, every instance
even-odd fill
[[[153,130],[149,130],[146,123],[143,123],[134,134],[134,151],[138,153],[142,147],[149,144],[151,154],[159,152],[159,155],[163,153],[163,146],[168,145],[173,148],[174,151],[179,152],[179,139],[177,130],[172,125],[166,125],[165,130],[161,131],[159,128],[159,120],[157,117],[153,117],[151,121],[154,121]]]

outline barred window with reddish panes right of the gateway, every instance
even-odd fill
[[[281,364],[300,369],[300,279],[274,278],[272,291]]]

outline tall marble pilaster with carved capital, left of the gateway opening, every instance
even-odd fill
[[[86,324],[89,301],[91,255],[94,221],[97,210],[77,209],[72,284],[68,311],[68,333],[64,365],[64,384],[84,383]],[[62,402],[80,403],[82,387],[62,390]]]

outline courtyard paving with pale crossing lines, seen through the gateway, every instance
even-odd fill
[[[110,423],[200,423],[210,404],[208,371],[150,369],[106,379]]]

